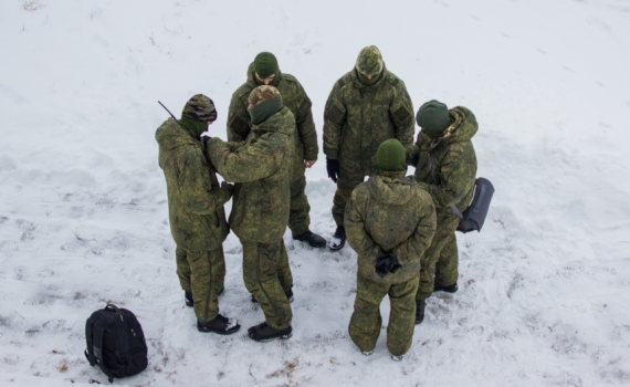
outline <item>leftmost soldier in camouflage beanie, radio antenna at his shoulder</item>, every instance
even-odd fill
[[[186,304],[195,306],[199,332],[229,335],[241,327],[238,321],[219,314],[225,278],[222,243],[230,232],[223,203],[230,200],[231,187],[225,182],[219,186],[200,140],[216,119],[212,100],[197,94],[183,107],[181,119],[168,118],[160,125],[156,140]]]

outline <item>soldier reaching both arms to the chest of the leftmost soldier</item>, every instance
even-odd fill
[[[261,304],[265,322],[252,326],[256,342],[292,335],[290,297],[293,278],[282,236],[290,211],[295,118],[277,88],[259,86],[249,97],[252,127],[244,143],[208,142],[219,174],[239,182],[230,227],[243,244],[245,287]]]

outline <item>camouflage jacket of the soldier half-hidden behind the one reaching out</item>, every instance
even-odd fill
[[[282,95],[284,106],[288,107],[295,117],[297,134],[295,139],[296,167],[304,166],[304,160],[316,160],[319,147],[317,145],[317,132],[311,113],[311,100],[291,74],[280,73],[280,81],[275,88]],[[275,82],[274,82],[275,83]],[[228,140],[243,142],[250,134],[251,118],[248,113],[248,97],[252,90],[260,86],[254,79],[253,63],[248,69],[248,82],[232,94],[230,112],[228,113]]]

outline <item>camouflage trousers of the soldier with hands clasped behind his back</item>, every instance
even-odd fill
[[[353,342],[364,352],[374,349],[382,324],[380,302],[389,295],[391,310],[387,348],[395,356],[405,355],[413,338],[418,278],[397,284],[380,284],[357,278],[355,312],[348,327]]]

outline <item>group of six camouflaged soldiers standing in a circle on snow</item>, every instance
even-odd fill
[[[324,154],[336,182],[330,240],[309,230],[305,170],[317,160],[311,100],[280,71],[269,52],[255,56],[248,80],[232,95],[228,142],[202,136],[217,119],[213,102],[192,96],[181,118],[156,132],[164,170],[177,274],[200,332],[232,334],[240,325],[219,314],[230,230],[243,251],[243,280],[265,321],[249,328],[254,341],[292,335],[293,276],[283,236],[313,248],[358,255],[357,293],[349,335],[371,354],[389,295],[387,346],[399,360],[435,291],[458,290],[455,229],[471,202],[476,158],[472,112],[423,104],[416,117],[405,83],[379,50],[363,49],[355,67],[333,86],[324,112]],[[414,123],[421,132],[413,143]],[[414,176],[406,177],[408,166]],[[219,184],[217,174],[223,180]],[[364,182],[366,176],[369,179]],[[229,222],[223,205],[232,198]]]

